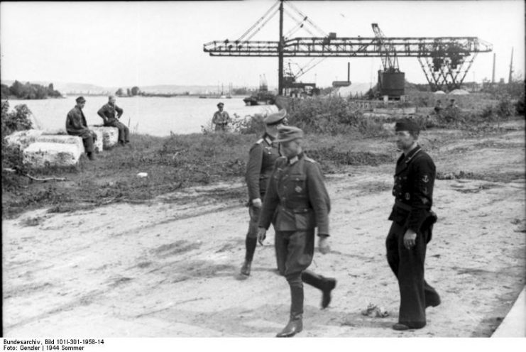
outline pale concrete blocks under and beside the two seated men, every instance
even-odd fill
[[[96,153],[116,145],[119,130],[116,127],[90,127],[97,134]],[[63,130],[17,131],[6,137],[9,145],[16,145],[23,153],[23,163],[33,168],[74,166],[85,152],[82,138],[70,136]]]

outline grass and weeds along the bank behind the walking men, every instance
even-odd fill
[[[19,106],[10,113],[4,107],[2,103],[2,137],[4,131],[12,128],[28,128],[24,122],[27,109]],[[514,118],[514,114],[505,116],[498,112],[498,105],[492,109],[498,119]],[[397,116],[366,118],[352,101],[339,97],[292,100],[287,111],[290,124],[305,130],[305,149],[319,161],[325,173],[344,170],[346,165],[393,163],[397,157],[390,141],[392,135],[384,128],[385,123]],[[414,117],[423,128],[464,128],[470,133],[495,131],[491,119],[464,109],[459,110],[457,116],[417,114]],[[132,135],[131,148],[113,148],[99,154],[95,162],[90,163],[82,156],[75,168],[31,170],[33,176],[66,177],[65,182],[32,182],[21,173],[6,172],[6,168],[24,169],[18,150],[4,145],[3,138],[2,216],[17,216],[41,207],[62,212],[111,202],[143,202],[193,185],[241,181],[248,150],[263,132],[262,121],[263,116],[236,119],[231,133],[211,133],[204,128],[204,133],[172,134],[165,138]],[[477,126],[486,128],[478,131]],[[139,172],[148,173],[148,177],[137,177]],[[234,189],[221,197],[235,197],[242,204],[247,196],[244,189]]]

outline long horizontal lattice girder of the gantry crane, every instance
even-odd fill
[[[466,57],[488,53],[493,46],[476,37],[437,38],[291,38],[283,42],[284,57],[383,57],[388,45],[398,57]],[[211,56],[277,57],[278,41],[212,41],[204,44]],[[393,53],[391,51],[391,53]],[[454,59],[456,60],[456,59]]]

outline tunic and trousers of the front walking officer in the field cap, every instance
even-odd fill
[[[327,280],[307,268],[314,255],[314,229],[318,236],[329,236],[330,209],[322,171],[314,160],[303,153],[276,160],[258,226],[268,229],[275,216],[276,257],[290,285],[291,317],[303,313],[302,282],[327,289]]]

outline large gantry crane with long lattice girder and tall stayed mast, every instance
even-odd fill
[[[283,4],[296,12],[295,16],[285,12],[297,21],[297,25],[287,36],[283,35]],[[250,40],[276,13],[280,16],[278,40]],[[300,20],[297,15],[300,16]],[[312,33],[305,24],[314,28],[317,33]],[[290,38],[301,28],[312,36]],[[308,16],[285,0],[275,2],[265,15],[237,40],[214,40],[205,43],[203,50],[211,56],[278,57],[278,94],[283,95],[284,57],[385,57],[385,48],[389,48],[389,53],[395,58],[417,57],[433,91],[459,88],[476,54],[493,50],[490,43],[476,37],[336,38],[336,33],[327,35]]]

